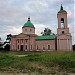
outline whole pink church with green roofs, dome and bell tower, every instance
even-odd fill
[[[67,24],[67,12],[61,5],[57,13],[58,28],[56,35],[35,34],[35,26],[30,17],[22,27],[22,33],[12,35],[11,51],[72,51],[72,36]]]

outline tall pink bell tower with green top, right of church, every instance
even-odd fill
[[[72,50],[72,36],[69,33],[67,24],[67,12],[61,5],[60,11],[57,13],[58,28],[57,28],[57,50],[71,51]]]

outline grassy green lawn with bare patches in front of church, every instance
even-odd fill
[[[75,73],[75,52],[0,52],[0,72]]]

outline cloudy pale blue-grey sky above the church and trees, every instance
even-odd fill
[[[75,0],[0,0],[0,37],[16,35],[22,32],[22,26],[28,16],[36,28],[36,34],[41,35],[45,28],[50,28],[57,34],[57,13],[61,4],[68,15],[68,27],[72,34],[72,44],[75,44]]]

